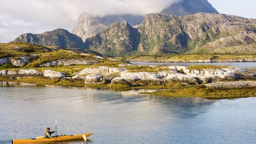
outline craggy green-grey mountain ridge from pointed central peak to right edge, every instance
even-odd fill
[[[151,13],[132,28],[114,23],[86,41],[105,56],[159,53],[256,53],[256,20],[238,16],[197,13],[176,17]]]

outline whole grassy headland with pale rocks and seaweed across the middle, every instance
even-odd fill
[[[167,97],[256,96],[256,75],[234,67],[135,66],[122,58],[27,43],[0,44],[0,81],[113,90],[158,89],[150,94]]]

